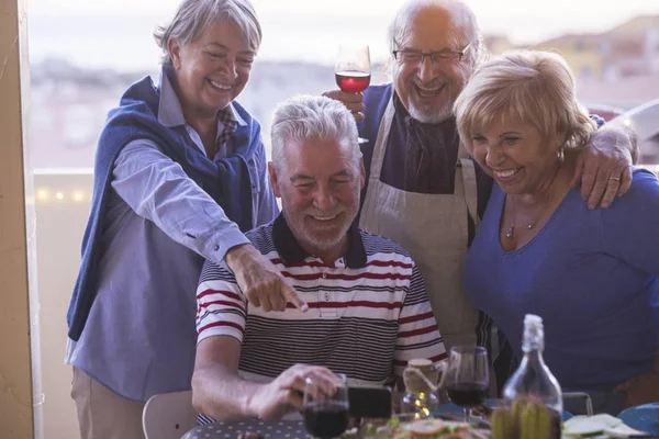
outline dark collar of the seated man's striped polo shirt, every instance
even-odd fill
[[[289,228],[283,213],[280,213],[272,224],[272,243],[281,259],[288,264],[301,263],[312,256],[300,246]],[[366,267],[366,249],[355,222],[348,228],[348,252],[345,255],[345,261],[346,266],[353,269]]]

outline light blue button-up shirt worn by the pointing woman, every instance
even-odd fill
[[[185,131],[186,123],[164,69],[158,122]],[[245,121],[231,106],[239,125]],[[217,123],[217,134],[223,124]],[[217,145],[214,160],[233,153]],[[278,206],[265,149],[248,161],[256,225]],[[68,340],[69,364],[119,395],[139,402],[157,393],[190,389],[197,333],[194,292],[204,258],[221,263],[228,249],[249,241],[223,210],[154,142],[141,139],[120,153],[112,173],[97,299],[80,339]]]

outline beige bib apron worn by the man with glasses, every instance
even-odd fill
[[[468,212],[479,225],[473,161],[460,145],[454,194],[405,192],[384,184],[380,172],[393,113],[390,101],[375,145],[359,226],[399,243],[415,260],[446,349],[474,345],[479,313],[462,288]]]

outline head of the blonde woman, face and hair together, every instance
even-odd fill
[[[594,130],[566,60],[547,52],[481,64],[455,112],[465,147],[509,194],[537,193],[559,169],[565,178],[574,164],[561,166],[559,151],[583,145]]]

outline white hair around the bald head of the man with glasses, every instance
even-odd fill
[[[389,48],[391,56],[393,57],[393,50],[399,49],[399,44],[410,32],[414,30],[410,26],[410,19],[413,14],[420,12],[420,9],[437,8],[445,9],[451,12],[454,20],[458,24],[457,30],[463,32],[463,36],[471,44],[469,50],[467,50],[466,59],[474,67],[479,64],[479,60],[487,55],[484,54],[484,45],[482,44],[482,36],[476,15],[469,5],[462,0],[409,0],[404,3],[393,20],[389,24],[387,37],[389,40]],[[456,31],[457,31],[456,30]],[[456,40],[456,44],[459,44],[458,38],[460,35],[453,36]],[[457,47],[461,49],[461,47]]]

